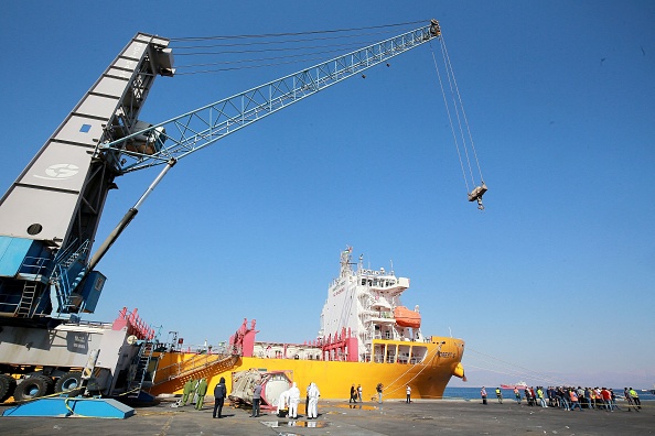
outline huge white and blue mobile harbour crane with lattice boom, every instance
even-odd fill
[[[124,328],[125,335],[96,345],[90,338],[97,331],[85,329],[79,315],[95,310],[103,291],[106,277],[96,270],[98,262],[161,178],[189,154],[440,35],[439,23],[431,20],[414,31],[153,124],[140,120],[139,115],[157,76],[175,75],[173,53],[170,40],[138,33],[0,198],[0,326],[6,326],[0,328],[2,372],[43,368],[42,373],[28,378],[43,379],[31,394],[39,396],[47,388],[42,384],[52,384],[72,367],[90,373],[103,361],[106,374],[96,378],[96,392],[111,394],[132,386],[125,381],[126,374],[143,378],[147,359],[142,358],[143,348],[136,346],[148,342],[148,335],[135,337]],[[116,178],[155,166],[161,171],[152,184],[92,254]],[[481,200],[481,194],[474,199]],[[80,346],[72,347],[76,340]],[[39,352],[25,344],[40,344]],[[63,345],[63,350],[76,358],[64,358],[55,345]],[[135,350],[127,359],[101,359],[130,347]],[[100,348],[105,352],[100,353]],[[111,360],[110,364],[105,360]],[[136,371],[138,362],[141,370]],[[7,377],[0,375],[2,401],[11,393],[3,388],[3,383],[11,384]],[[83,379],[86,384],[88,377]],[[23,392],[25,395],[30,396]]]

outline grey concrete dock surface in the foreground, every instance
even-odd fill
[[[627,412],[622,404],[614,412],[529,407],[505,401],[402,401],[357,403],[320,401],[319,418],[307,419],[304,404],[299,418],[279,418],[264,411],[225,406],[222,419],[212,418],[213,401],[196,411],[193,406],[172,407],[173,401],[136,408],[127,419],[84,417],[0,417],[2,435],[337,435],[337,436],[425,436],[425,435],[651,435],[655,433],[655,404],[644,402],[640,412]],[[0,412],[8,408],[0,407]]]

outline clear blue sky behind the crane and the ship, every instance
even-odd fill
[[[8,0],[0,186],[137,32],[299,33],[431,18],[490,187],[484,211],[466,201],[423,45],[181,161],[99,264],[108,282],[89,318],[138,307],[163,339],[217,344],[247,317],[261,340],[310,340],[350,244],[372,268],[393,261],[411,279],[402,301],[420,306],[423,334],[466,341],[468,385],[652,388],[652,1]],[[160,77],[141,118],[164,121],[311,65]],[[98,240],[155,175],[117,181]]]

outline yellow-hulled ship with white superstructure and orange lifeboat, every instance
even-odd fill
[[[377,397],[378,384],[384,399],[404,399],[407,385],[412,397],[442,397],[451,377],[465,380],[464,341],[425,336],[419,307],[409,309],[400,302],[409,279],[384,268],[366,269],[363,257],[353,263],[352,251],[347,247],[341,252],[340,274],[328,287],[315,339],[257,341],[256,321],[244,319],[223,350],[160,350],[149,392],[181,394],[189,379],[201,378],[212,389],[222,377],[230,392],[235,374],[257,369],[286,374],[301,391],[314,382],[322,399],[347,399],[352,384],[362,386],[364,401]]]

